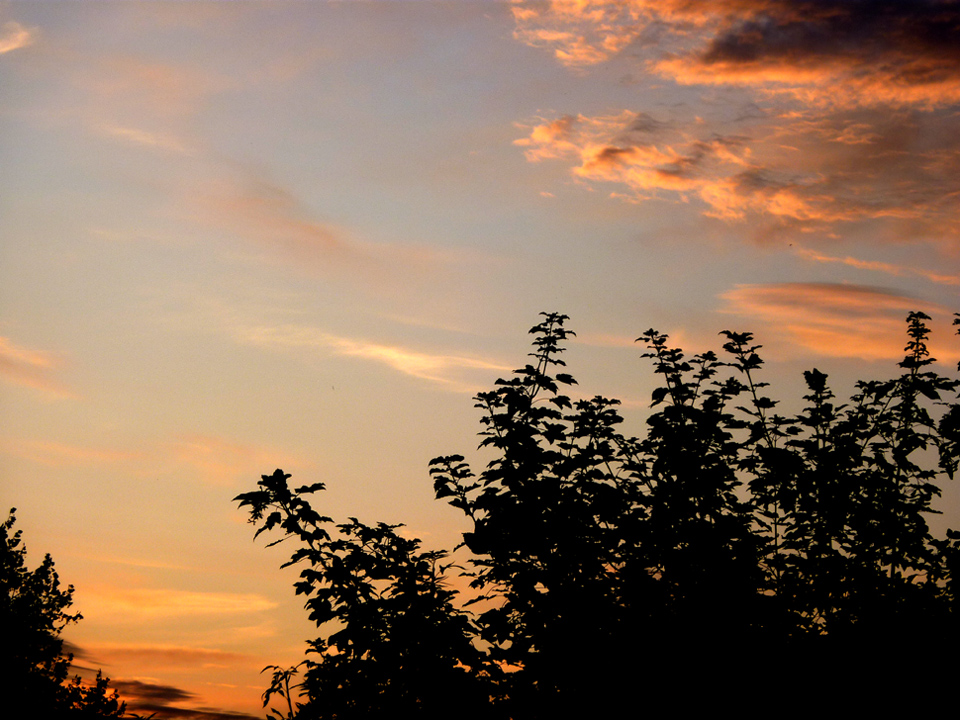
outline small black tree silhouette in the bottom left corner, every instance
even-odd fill
[[[26,566],[21,532],[12,535],[16,509],[0,525],[0,683],[4,706],[17,717],[119,717],[125,705],[98,672],[92,686],[68,680],[73,655],[63,654],[61,632],[81,619],[70,613],[73,586],[63,589],[46,555]]]

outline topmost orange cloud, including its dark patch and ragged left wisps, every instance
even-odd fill
[[[513,16],[518,40],[570,67],[608,60],[652,31],[656,43],[640,48],[649,69],[680,84],[851,107],[960,99],[960,9],[942,0],[551,0],[518,3]]]

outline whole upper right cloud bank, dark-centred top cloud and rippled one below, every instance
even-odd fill
[[[629,109],[539,118],[516,141],[531,162],[572,161],[575,180],[629,202],[692,200],[758,237],[871,223],[895,240],[960,236],[956,2],[553,0],[513,13],[515,36],[565,65],[629,56],[651,82],[752,101],[721,124]]]

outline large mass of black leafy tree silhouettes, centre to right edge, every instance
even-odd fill
[[[472,525],[465,568],[396,525],[334,525],[305,499],[322,484],[263,476],[236,500],[257,535],[299,541],[285,566],[305,565],[297,593],[325,630],[299,716],[574,717],[734,681],[796,693],[814,669],[854,684],[929,672],[928,650],[960,638],[960,533],[926,521],[960,460],[960,383],[932,369],[928,319],[909,315],[898,377],[838,404],[811,370],[796,415],[776,412],[749,333],[722,333],[721,360],[649,330],[662,382],[635,438],[618,401],[563,394],[573,333],[545,315],[530,363],[476,396],[494,458],[479,475],[461,455],[430,463],[436,497]],[[265,704],[289,696],[275,670]]]

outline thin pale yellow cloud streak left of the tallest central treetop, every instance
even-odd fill
[[[429,380],[456,391],[473,392],[476,389],[464,381],[465,372],[510,370],[506,365],[481,358],[426,353],[400,345],[341,337],[301,325],[247,327],[239,329],[236,337],[241,342],[265,348],[299,349],[370,360],[404,375]]]

